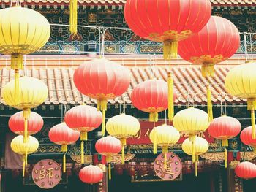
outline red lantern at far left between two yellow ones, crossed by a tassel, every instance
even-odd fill
[[[9,119],[9,128],[15,134],[23,135],[25,131],[23,112],[16,112]],[[37,134],[42,129],[44,120],[37,112],[31,112],[28,119],[28,135]]]

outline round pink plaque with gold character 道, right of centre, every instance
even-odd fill
[[[161,153],[154,161],[154,171],[162,180],[175,180],[182,172],[181,159],[175,153],[167,153],[165,168],[164,154]]]

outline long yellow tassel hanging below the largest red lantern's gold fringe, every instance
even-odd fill
[[[168,73],[168,118],[173,121],[174,117],[174,101],[173,101],[173,77]]]

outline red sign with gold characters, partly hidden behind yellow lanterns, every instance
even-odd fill
[[[162,124],[163,122],[161,121],[157,123],[140,121],[140,131],[138,132],[138,134],[135,135],[135,137],[127,139],[127,145],[151,144],[151,141],[149,139],[149,134],[151,130],[154,128],[154,126],[161,126]],[[206,139],[208,143],[214,142],[214,138],[208,134],[208,131],[204,132],[203,134],[199,134],[198,136]],[[178,143],[184,142],[185,139],[187,139],[187,137],[181,137]]]

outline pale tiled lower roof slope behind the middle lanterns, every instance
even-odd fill
[[[114,100],[110,100],[110,104],[121,104],[124,101],[131,104],[131,92],[138,83],[148,80],[152,72],[155,78],[167,80],[167,72],[170,72],[170,70],[173,72],[174,86],[178,93],[178,99],[175,101],[177,105],[187,104],[188,101],[195,104],[206,104],[206,79],[201,75],[200,66],[176,60],[172,62],[173,66],[170,68],[166,63],[164,64],[164,61],[159,60],[150,69],[147,64],[148,61],[142,58],[124,58],[123,60],[116,58],[116,60],[111,60],[124,64],[129,68],[132,82],[127,93]],[[48,61],[45,59],[44,61],[35,58],[33,61],[29,61],[28,58],[26,75],[37,77],[48,85],[49,93],[45,104],[79,104],[81,102],[96,104],[94,99],[82,96],[77,88],[75,88],[72,80],[75,68],[83,62],[86,62],[86,60],[79,60],[79,58],[74,61],[69,61],[68,58],[61,58],[61,61],[51,61],[50,59]],[[33,63],[33,66],[31,66],[31,63]],[[224,84],[227,72],[236,64],[241,63],[244,63],[244,60],[233,58],[224,64],[215,66],[215,77],[211,79],[212,101],[214,104],[220,104],[221,101],[226,101],[229,104],[244,103],[246,101],[227,94]],[[3,67],[8,66],[4,60],[0,61],[0,66],[2,68],[0,69],[0,85],[2,88],[13,79],[14,73],[8,69],[9,67]],[[21,75],[23,74],[24,72],[21,72]],[[0,102],[4,103],[2,95]]]

